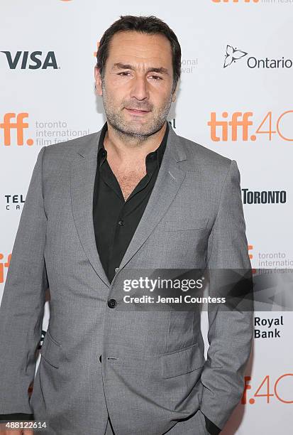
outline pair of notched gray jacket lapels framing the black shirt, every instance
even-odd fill
[[[94,179],[96,176],[96,156],[98,151],[101,130],[87,137],[87,141],[79,149],[77,159],[72,163],[70,171],[70,190],[72,197],[72,213],[75,226],[82,243],[85,254],[92,264],[96,274],[99,275],[106,286],[110,286],[104,268],[102,267],[99,253],[96,249],[94,235],[94,220],[92,213]],[[123,256],[120,268],[126,266],[133,255],[148,239],[160,222],[172,200],[175,198],[179,187],[184,180],[185,173],[177,162],[186,160],[184,149],[175,131],[170,127],[167,144],[160,171],[157,175],[155,186],[146,205],[136,232],[131,239]]]

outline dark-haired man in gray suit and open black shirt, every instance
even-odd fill
[[[97,53],[106,124],[38,154],[1,304],[3,421],[34,418],[50,435],[218,434],[241,399],[251,312],[209,308],[205,360],[198,311],[123,308],[131,269],[250,268],[236,161],[166,121],[180,65],[166,23],[121,16]]]

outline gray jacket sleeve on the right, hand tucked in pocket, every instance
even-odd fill
[[[243,276],[247,273],[252,276],[236,161],[231,161],[221,189],[218,213],[209,236],[207,267],[211,294],[216,293],[220,269],[238,269]],[[201,374],[204,387],[201,412],[223,429],[243,394],[244,370],[253,340],[253,301],[250,304],[248,299],[242,311],[226,311],[209,304],[208,316],[209,349]]]

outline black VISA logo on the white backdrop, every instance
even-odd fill
[[[43,51],[16,51],[16,53],[11,53],[11,51],[2,50],[0,53],[4,53],[8,66],[11,70],[47,70],[52,68],[57,70],[59,67],[57,65],[57,60],[54,51],[48,51],[43,53]]]

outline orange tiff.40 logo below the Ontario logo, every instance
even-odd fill
[[[284,141],[293,141],[293,137],[288,137],[284,133],[284,122],[288,123],[288,118],[292,116],[293,110],[287,110],[274,120],[272,112],[267,112],[258,126],[253,122],[253,112],[222,112],[219,115],[211,112],[211,118],[207,123],[210,127],[211,140],[218,141],[256,141],[258,134],[267,135],[269,141],[274,134],[277,134]],[[289,123],[292,125],[292,122]],[[253,129],[253,131],[252,131]],[[293,135],[292,135],[293,136]]]

